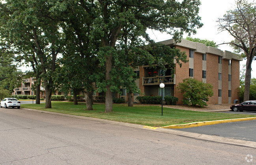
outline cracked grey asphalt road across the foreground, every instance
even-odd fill
[[[140,125],[0,108],[0,164],[255,164],[255,147]],[[176,131],[177,132],[177,131]],[[249,155],[249,156],[247,156]]]

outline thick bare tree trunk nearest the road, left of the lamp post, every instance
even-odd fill
[[[106,104],[105,104],[105,112],[112,112],[113,111],[113,98],[112,92],[110,90],[110,71],[112,69],[112,56],[107,56],[106,59],[106,81],[107,81],[107,92],[106,92]]]

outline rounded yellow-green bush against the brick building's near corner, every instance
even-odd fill
[[[207,106],[209,97],[213,96],[213,86],[196,79],[187,78],[178,84],[178,90],[183,94],[183,103],[186,105]]]

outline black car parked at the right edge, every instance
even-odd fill
[[[237,104],[237,105],[232,105],[230,106],[230,109],[237,112],[241,111],[256,111],[256,100],[249,100],[245,101],[243,103]]]

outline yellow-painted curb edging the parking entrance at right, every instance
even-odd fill
[[[247,117],[247,118],[239,118],[239,119],[226,119],[226,120],[215,120],[215,121],[202,121],[202,122],[195,122],[195,123],[187,123],[187,124],[180,124],[180,125],[168,125],[159,128],[191,128],[191,127],[199,127],[204,125],[214,125],[214,124],[221,124],[221,123],[230,123],[230,122],[237,122],[237,121],[247,121],[247,120],[256,120],[256,117]],[[149,126],[147,126],[149,127]],[[156,127],[154,127],[156,128]]]

